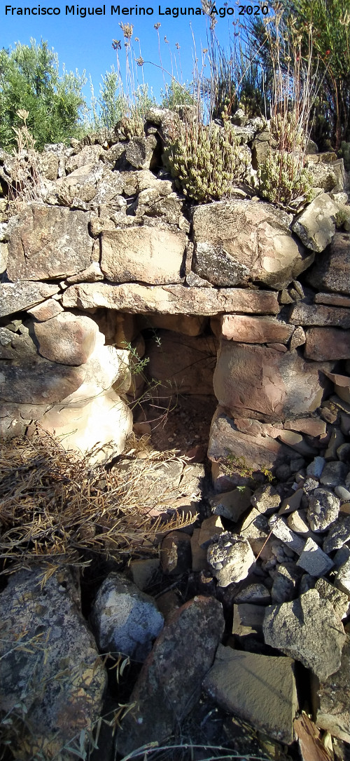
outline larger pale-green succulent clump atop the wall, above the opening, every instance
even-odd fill
[[[247,154],[227,117],[222,128],[205,125],[196,115],[179,121],[163,160],[184,196],[199,202],[228,196],[233,180],[243,179],[248,166]]]

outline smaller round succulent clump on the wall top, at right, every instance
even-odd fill
[[[312,198],[311,173],[291,153],[271,151],[258,179],[261,195],[285,209],[295,212]]]

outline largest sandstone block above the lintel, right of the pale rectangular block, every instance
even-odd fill
[[[292,237],[291,217],[262,201],[200,205],[193,223],[193,269],[213,285],[285,288],[313,262]]]

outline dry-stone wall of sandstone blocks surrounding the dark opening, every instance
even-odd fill
[[[153,110],[142,137],[47,146],[36,199],[0,200],[0,431],[38,421],[97,460],[120,454],[138,316],[192,336],[193,351],[210,319],[209,457],[222,490],[244,480],[238,458],[257,471],[314,457],[334,409],[349,432],[348,177],[335,154],[313,153],[315,197],[298,215],[244,183],[191,207],[162,168],[171,118]],[[254,177],[266,129],[254,119],[237,132]],[[2,152],[4,194],[14,177]]]

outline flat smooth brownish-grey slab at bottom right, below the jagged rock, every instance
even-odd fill
[[[298,708],[292,658],[219,645],[203,689],[225,711],[249,721],[279,742],[292,743]]]

